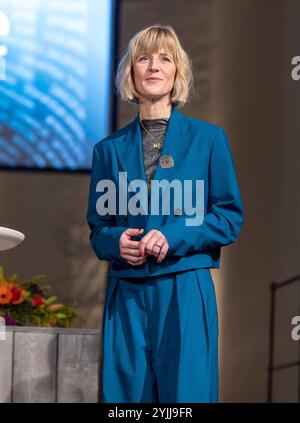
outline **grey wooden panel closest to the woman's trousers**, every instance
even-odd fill
[[[59,335],[57,402],[96,403],[99,335]]]

